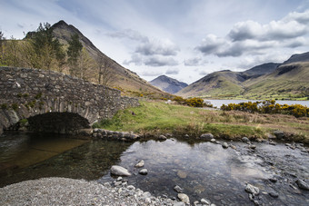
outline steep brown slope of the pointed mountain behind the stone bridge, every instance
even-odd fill
[[[100,56],[111,61],[111,68],[113,69],[113,73],[116,76],[116,80],[113,86],[121,89],[123,93],[129,95],[136,93],[152,93],[158,96],[168,95],[167,93],[163,93],[161,90],[146,82],[134,72],[126,69],[122,65],[116,63],[113,59],[103,54],[88,38],[85,37],[84,34],[75,28],[74,25],[67,25],[65,21],[59,21],[55,25],[52,25],[52,28],[54,29],[55,37],[60,41],[61,44],[67,46],[68,41],[71,39],[71,35],[78,34],[80,37],[80,42],[83,44],[88,54],[95,61],[97,61],[98,57]]]

